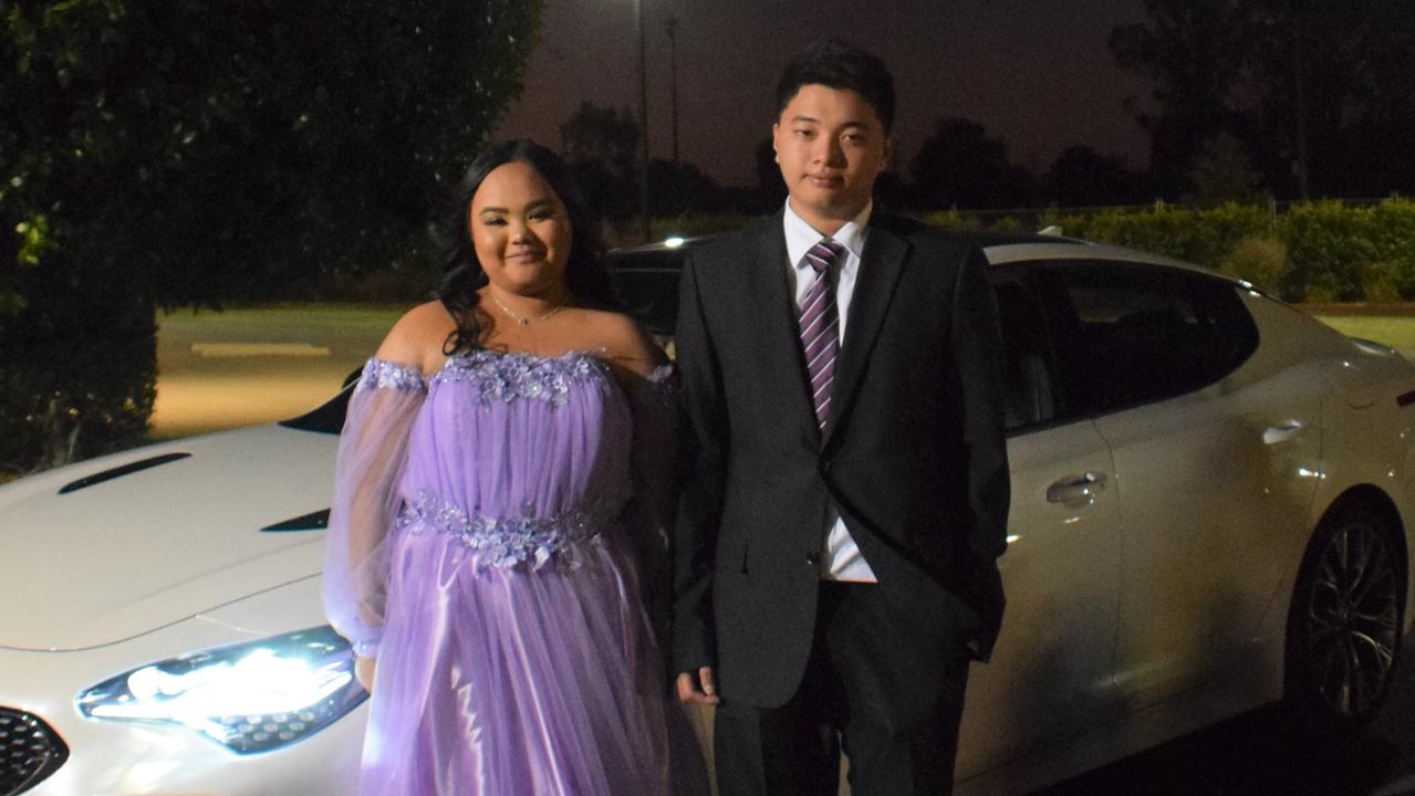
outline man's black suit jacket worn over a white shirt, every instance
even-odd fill
[[[982,250],[872,213],[816,427],[782,219],[688,254],[674,662],[719,690],[782,704],[805,670],[829,506],[897,605],[901,683],[927,687],[1002,619],[1009,501],[996,308]]]

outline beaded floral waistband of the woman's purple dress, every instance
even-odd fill
[[[573,570],[582,561],[582,547],[596,543],[613,519],[604,501],[587,499],[567,512],[536,516],[532,506],[519,515],[492,517],[468,515],[461,508],[430,493],[419,493],[398,512],[395,527],[410,533],[446,533],[477,554],[477,566],[511,568],[525,564],[531,571],[553,563]]]

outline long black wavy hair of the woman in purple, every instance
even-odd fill
[[[468,213],[471,198],[497,167],[526,163],[535,168],[560,197],[570,216],[570,259],[565,266],[565,281],[572,300],[583,307],[611,308],[608,274],[604,270],[604,243],[600,240],[599,216],[590,209],[570,167],[560,156],[528,139],[498,141],[487,147],[467,167],[456,194],[450,225],[451,245],[447,247],[437,298],[457,321],[457,331],[443,345],[447,355],[481,348],[481,324],[477,321],[477,290],[487,284],[487,274],[477,260],[471,242]]]

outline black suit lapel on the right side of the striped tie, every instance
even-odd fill
[[[876,218],[877,213],[879,211]],[[850,411],[907,254],[907,240],[883,226],[870,223],[865,253],[860,257],[860,271],[855,277],[855,293],[850,295],[845,342],[835,365],[835,383],[831,385],[831,416],[825,421],[825,443],[829,443],[839,420]]]

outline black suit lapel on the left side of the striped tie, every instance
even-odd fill
[[[816,437],[815,407],[807,389],[805,363],[801,361],[801,332],[797,328],[795,297],[787,280],[787,239],[781,212],[763,229],[751,246],[747,267],[747,295],[753,329],[750,339],[760,344],[761,389],[780,394],[798,407],[802,431]]]

